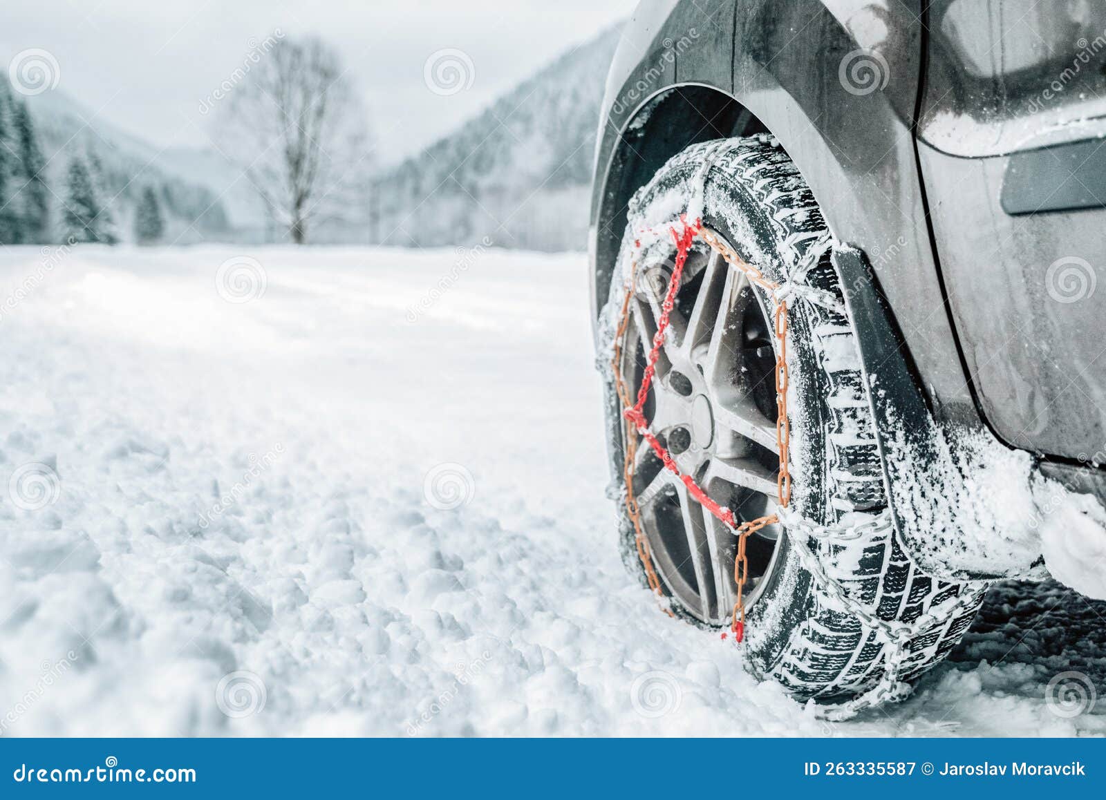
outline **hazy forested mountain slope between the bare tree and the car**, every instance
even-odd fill
[[[618,31],[562,55],[490,108],[379,176],[374,241],[580,250],[598,108]]]

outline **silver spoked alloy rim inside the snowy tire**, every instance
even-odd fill
[[[638,266],[619,365],[632,391],[640,386],[674,265],[669,254]],[[775,350],[765,303],[719,253],[691,251],[645,404],[650,430],[680,471],[739,522],[771,513],[776,496]],[[633,491],[660,579],[696,619],[726,624],[737,594],[735,538],[648,444],[637,444]],[[780,534],[770,525],[747,543],[747,607],[773,567]]]

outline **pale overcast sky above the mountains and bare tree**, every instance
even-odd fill
[[[416,151],[562,51],[629,15],[636,0],[4,0],[0,59],[56,60],[58,90],[158,146],[205,145],[201,101],[251,43],[313,33],[342,53],[384,161]],[[461,51],[471,85],[435,93],[431,54]],[[448,56],[447,56],[448,57]],[[448,87],[447,87],[448,88]]]

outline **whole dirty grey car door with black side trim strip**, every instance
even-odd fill
[[[1085,460],[1106,442],[1106,3],[929,13],[919,155],[969,379],[1008,444]]]

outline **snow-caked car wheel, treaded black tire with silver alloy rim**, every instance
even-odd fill
[[[730,624],[733,531],[623,417],[626,387],[636,394],[641,383],[674,272],[676,244],[664,231],[689,203],[716,245],[698,236],[688,253],[645,415],[680,471],[738,522],[776,507],[779,344],[772,296],[722,253],[732,249],[781,284],[803,265],[805,283],[835,301],[789,301],[791,524],[747,539],[743,663],[796,698],[838,704],[847,709],[842,716],[900,698],[905,682],[956,645],[985,587],[922,573],[890,526],[878,524],[886,488],[842,287],[830,248],[817,248],[828,234],[799,170],[769,136],[695,145],[630,203],[601,320],[624,559],[672,614],[703,628]],[[842,526],[854,535],[827,535]]]

